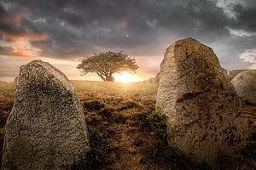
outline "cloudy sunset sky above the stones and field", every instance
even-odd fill
[[[154,77],[173,41],[194,37],[221,65],[256,69],[255,0],[0,0],[0,80],[20,65],[47,61],[70,79],[76,66],[108,50],[137,59],[137,75]]]

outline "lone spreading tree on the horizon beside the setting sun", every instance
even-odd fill
[[[94,54],[82,60],[77,67],[82,73],[95,72],[104,82],[113,82],[113,73],[121,71],[135,72],[138,68],[135,59],[122,52],[111,51]]]

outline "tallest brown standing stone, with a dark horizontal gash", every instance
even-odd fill
[[[160,65],[156,108],[168,142],[193,161],[236,154],[247,138],[241,100],[212,48],[193,38],[173,42]]]

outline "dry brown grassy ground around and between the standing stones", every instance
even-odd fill
[[[165,125],[154,111],[157,85],[148,82],[72,81],[84,108],[90,133],[89,169],[254,169],[255,134],[244,150],[246,158],[227,157],[210,166],[198,165],[166,147]],[[0,83],[0,147],[4,124],[12,109],[14,82]],[[243,114],[252,127],[256,106],[245,105]],[[2,150],[1,153],[2,155]],[[2,156],[1,156],[2,157]],[[254,166],[254,167],[253,167]],[[76,167],[83,169],[83,166]]]

